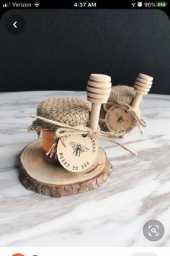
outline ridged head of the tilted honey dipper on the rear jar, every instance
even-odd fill
[[[134,90],[136,93],[146,95],[151,90],[152,84],[153,77],[140,73],[135,80]]]

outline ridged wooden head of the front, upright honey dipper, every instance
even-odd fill
[[[106,74],[91,74],[87,82],[86,94],[92,103],[106,103],[111,91],[111,77]]]

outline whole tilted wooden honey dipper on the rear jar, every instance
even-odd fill
[[[138,74],[134,85],[134,90],[136,94],[135,98],[133,99],[133,103],[131,104],[131,107],[135,111],[137,111],[138,109],[142,96],[148,94],[148,92],[151,90],[152,84],[153,77],[150,77],[146,74]]]

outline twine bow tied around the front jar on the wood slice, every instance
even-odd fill
[[[110,142],[115,142],[115,144],[120,145],[122,148],[124,148],[125,150],[128,150],[130,153],[132,153],[133,155],[137,155],[137,153],[133,150],[130,150],[127,146],[122,145],[122,143],[117,142],[116,140],[112,140],[109,137],[111,136],[116,136],[116,137],[120,137],[122,135],[125,134],[125,130],[124,129],[120,129],[120,130],[116,130],[115,132],[104,132],[101,131],[99,128],[98,129],[91,129],[90,127],[84,127],[84,126],[76,126],[76,127],[71,127],[68,124],[63,124],[59,121],[53,121],[50,119],[46,119],[45,117],[42,116],[35,116],[34,114],[31,115],[32,118],[35,119],[40,119],[42,121],[45,121],[48,124],[53,124],[56,127],[60,127],[55,131],[55,137],[56,138],[63,138],[64,136],[68,135],[68,134],[73,134],[73,135],[93,135],[96,136],[102,140],[107,140]],[[53,153],[54,149],[56,147],[56,142],[52,145],[52,147],[50,148],[49,152],[47,153],[48,155],[50,153]]]

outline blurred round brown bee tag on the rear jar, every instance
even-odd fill
[[[125,132],[130,132],[135,127],[135,118],[125,109],[112,106],[105,116],[105,124],[109,132],[115,132],[117,129],[125,129]]]

